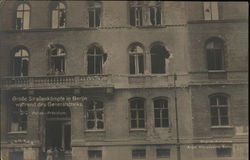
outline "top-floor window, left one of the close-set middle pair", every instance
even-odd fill
[[[142,2],[130,2],[129,7],[130,25],[141,26],[142,25]]]

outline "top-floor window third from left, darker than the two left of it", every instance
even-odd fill
[[[101,25],[101,2],[89,2],[89,27]]]

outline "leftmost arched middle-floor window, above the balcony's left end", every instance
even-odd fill
[[[24,47],[14,49],[13,56],[13,75],[28,76],[29,53]]]

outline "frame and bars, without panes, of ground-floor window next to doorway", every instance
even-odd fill
[[[86,104],[86,108],[85,108],[85,121],[86,121],[85,128],[86,128],[86,131],[104,131],[105,130],[105,106],[104,106],[104,103],[103,103],[102,100],[99,100],[99,99],[96,99],[96,98],[88,100],[88,103],[93,103],[94,101],[99,102],[102,105],[102,107],[101,107],[101,109],[96,109],[96,108],[92,109],[92,112],[94,112],[94,119],[93,119],[94,127],[89,128],[88,127],[88,122],[90,121],[88,119],[89,110],[88,110],[88,106],[87,106],[88,104]],[[97,112],[102,112],[101,121],[103,123],[103,128],[97,128],[97,122],[98,122],[98,120],[100,120],[100,119],[97,118]]]

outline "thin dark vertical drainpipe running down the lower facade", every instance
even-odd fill
[[[175,121],[176,121],[176,154],[177,160],[181,160],[181,150],[180,150],[180,136],[179,136],[179,124],[178,124],[178,109],[177,109],[177,93],[176,93],[176,83],[177,75],[174,73],[174,104],[175,104]]]

